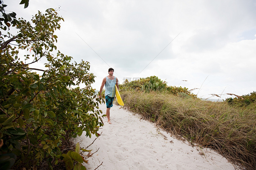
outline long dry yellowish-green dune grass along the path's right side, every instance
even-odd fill
[[[234,107],[166,93],[121,92],[125,106],[176,137],[256,169],[256,105]]]

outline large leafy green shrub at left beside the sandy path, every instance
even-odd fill
[[[2,13],[4,7],[1,2]],[[95,76],[89,73],[90,64],[71,63],[72,57],[60,51],[52,54],[57,49],[54,31],[63,20],[54,9],[38,12],[31,22],[15,19],[13,13],[1,18],[7,27],[0,24],[0,169],[13,164],[15,169],[30,169],[42,162],[50,169],[59,162],[67,169],[85,169],[79,145],[76,152],[62,145],[83,131],[98,136],[103,125],[98,103],[104,101],[91,88]],[[11,25],[16,35],[6,31]],[[24,50],[32,55],[20,56]],[[45,70],[30,67],[42,58],[47,60]],[[69,88],[80,83],[85,88]]]

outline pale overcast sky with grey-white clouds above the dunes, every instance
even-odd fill
[[[199,88],[193,93],[202,98],[256,91],[255,0],[30,0],[26,9],[19,2],[4,0],[26,20],[59,9],[57,48],[90,62],[97,90],[112,67],[120,84],[155,75]]]

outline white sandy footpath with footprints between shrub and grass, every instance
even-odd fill
[[[90,146],[92,157],[88,158],[88,170],[99,166],[99,170],[148,170],[148,169],[238,169],[218,153],[210,149],[192,147],[159,130],[153,123],[133,115],[125,109],[113,104],[110,109],[112,124],[103,119],[104,126],[99,130],[102,135]],[[106,106],[100,105],[105,114]],[[86,148],[96,138],[77,137],[81,147]]]

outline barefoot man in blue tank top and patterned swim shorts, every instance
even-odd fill
[[[118,86],[118,79],[113,76],[114,69],[110,68],[108,69],[108,76],[104,77],[101,87],[100,87],[100,94],[102,93],[103,87],[105,85],[105,98],[106,98],[106,104],[107,104],[107,123],[111,124],[110,122],[110,108],[113,106],[113,100],[115,97],[115,85],[117,86],[117,89],[119,90]],[[101,95],[99,95],[99,98],[101,98]]]

